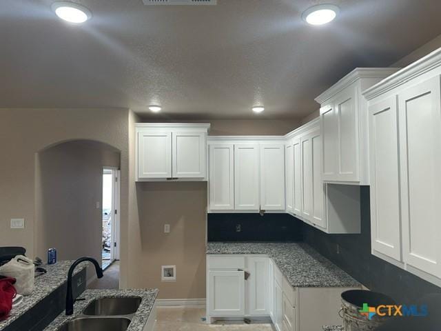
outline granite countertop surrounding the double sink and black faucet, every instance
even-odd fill
[[[81,294],[79,297],[85,300],[75,302],[74,314],[71,316],[66,316],[64,312],[61,312],[61,314],[59,314],[59,316],[54,319],[54,321],[52,321],[52,323],[50,323],[44,330],[55,331],[60,327],[61,324],[78,317],[78,315],[83,312],[84,308],[94,299],[99,299],[101,297],[141,297],[141,304],[139,305],[138,310],[136,310],[136,313],[133,315],[127,331],[142,331],[147,323],[147,319],[150,316],[150,312],[152,312],[157,296],[157,289],[85,290],[85,292],[83,292],[83,294]]]

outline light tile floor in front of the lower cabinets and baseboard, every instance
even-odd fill
[[[273,331],[270,323],[245,324],[218,321],[209,325],[202,321],[205,308],[158,308],[155,331]]]

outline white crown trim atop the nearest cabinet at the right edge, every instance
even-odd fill
[[[391,74],[391,76],[384,78],[374,86],[371,86],[367,90],[363,91],[362,94],[367,100],[373,99],[378,97],[378,95],[407,83],[407,81],[410,81],[411,79],[414,79],[439,66],[441,66],[441,48],[434,50],[418,61],[415,61],[409,66],[402,68],[398,72]]]

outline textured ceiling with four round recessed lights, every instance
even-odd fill
[[[441,33],[440,0],[329,0],[340,16],[322,27],[300,19],[322,1],[76,2],[93,13],[82,26],[57,19],[50,0],[0,0],[0,107],[303,117],[356,66],[389,66]],[[152,103],[163,112],[150,113]],[[257,104],[265,112],[252,113]]]

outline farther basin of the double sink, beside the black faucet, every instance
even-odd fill
[[[115,316],[134,314],[141,304],[139,297],[100,298],[92,301],[83,310],[88,316]]]

